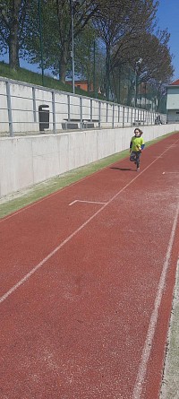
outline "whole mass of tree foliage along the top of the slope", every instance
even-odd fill
[[[13,68],[25,56],[65,82],[73,17],[77,76],[98,81],[107,99],[111,88],[119,100],[122,75],[130,92],[137,72],[138,82],[155,86],[159,98],[174,69],[169,33],[157,27],[157,10],[157,0],[0,0],[0,51],[9,51]]]

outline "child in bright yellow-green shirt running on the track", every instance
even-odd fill
[[[141,137],[143,132],[139,128],[135,128],[134,134],[132,136],[132,140],[130,143],[130,160],[137,165],[137,172],[140,170],[140,158],[141,158],[141,151],[145,147],[144,140]]]

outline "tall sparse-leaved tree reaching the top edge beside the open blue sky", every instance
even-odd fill
[[[107,99],[109,97],[110,73],[119,65],[121,53],[129,53],[132,40],[138,38],[141,31],[152,30],[158,2],[153,0],[108,0],[101,6],[96,19],[98,35],[107,49]],[[126,62],[127,60],[125,60]],[[120,65],[124,64],[124,60]]]

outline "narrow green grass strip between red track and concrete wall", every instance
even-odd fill
[[[165,134],[161,137],[158,137],[158,139],[146,143],[146,147],[149,147],[149,145],[163,140],[170,134],[174,134],[174,132]],[[39,183],[36,186],[31,186],[30,188],[21,190],[20,192],[14,193],[13,195],[7,195],[6,197],[0,199],[0,218],[3,218],[4,216],[15,211],[18,211],[22,207],[28,204],[32,204],[35,201],[38,201],[40,198],[45,197],[46,195],[55,193],[55,191],[58,191],[65,186],[70,186],[72,183],[81,180],[81,178],[90,176],[92,173],[95,173],[100,169],[106,168],[108,165],[116,162],[117,160],[123,160],[128,155],[129,150],[118,152],[114,155],[104,158],[103,160],[98,160],[81,168],[73,169],[72,171],[64,173],[64,175],[50,178],[43,183]]]

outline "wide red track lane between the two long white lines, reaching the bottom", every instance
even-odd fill
[[[172,178],[160,178],[164,164],[177,167],[175,150],[4,301],[7,397],[24,384],[28,399],[131,397],[178,200]]]

